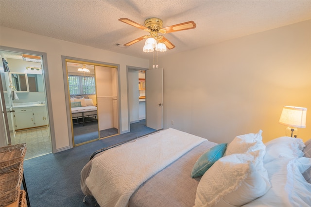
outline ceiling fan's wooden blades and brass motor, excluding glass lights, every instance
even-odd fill
[[[168,27],[162,27],[163,26],[163,21],[159,18],[148,18],[145,20],[145,26],[142,26],[138,24],[137,22],[128,19],[128,18],[120,18],[119,21],[124,22],[126,24],[129,24],[131,26],[134,26],[138,29],[141,29],[143,31],[149,32],[149,35],[144,35],[141,37],[138,37],[135,40],[132,40],[131,42],[128,42],[124,44],[124,46],[130,46],[133,45],[134,43],[137,43],[145,38],[153,37],[157,43],[164,43],[165,46],[168,49],[173,49],[175,46],[173,43],[171,43],[168,39],[166,39],[164,36],[159,35],[159,33],[165,34],[165,33],[170,33],[170,32],[178,32],[182,30],[190,30],[194,29],[196,24],[194,21],[188,21],[180,24],[175,24],[172,26]]]

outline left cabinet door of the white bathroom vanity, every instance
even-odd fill
[[[15,129],[34,127],[32,108],[17,108],[14,111]]]

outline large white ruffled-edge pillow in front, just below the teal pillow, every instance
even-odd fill
[[[242,206],[264,195],[271,186],[259,154],[232,154],[216,161],[199,182],[195,207]]]

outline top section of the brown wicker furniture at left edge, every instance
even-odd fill
[[[26,143],[0,147],[0,168],[23,162],[25,154]]]

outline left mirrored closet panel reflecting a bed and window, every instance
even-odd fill
[[[99,139],[95,67],[66,62],[73,145]]]

